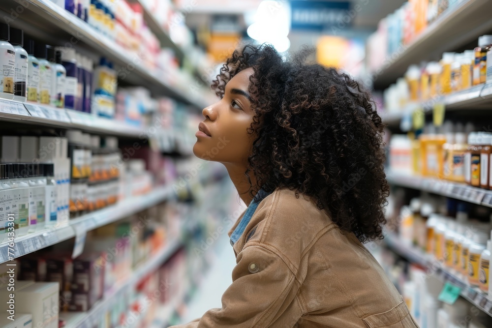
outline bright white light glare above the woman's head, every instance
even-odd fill
[[[250,38],[270,43],[278,52],[287,51],[290,40],[290,12],[286,1],[264,0],[258,6],[255,22],[247,29]]]

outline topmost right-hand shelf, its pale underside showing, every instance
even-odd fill
[[[492,29],[490,0],[463,0],[444,12],[399,54],[388,56],[374,73],[374,87],[385,89],[403,76],[411,64],[422,60],[439,60],[442,53],[454,51],[478,40]]]

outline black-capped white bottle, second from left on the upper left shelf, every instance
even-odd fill
[[[28,52],[24,47],[24,31],[10,28],[10,43],[15,50],[14,100],[25,102],[28,99]]]

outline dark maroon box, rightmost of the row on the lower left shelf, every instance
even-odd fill
[[[73,261],[70,311],[88,311],[104,292],[104,267],[100,253],[83,254]]]

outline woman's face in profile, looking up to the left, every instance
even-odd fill
[[[224,97],[202,111],[193,146],[195,156],[221,163],[247,165],[253,139],[246,129],[253,122],[248,94],[252,68],[236,74],[225,86]]]

